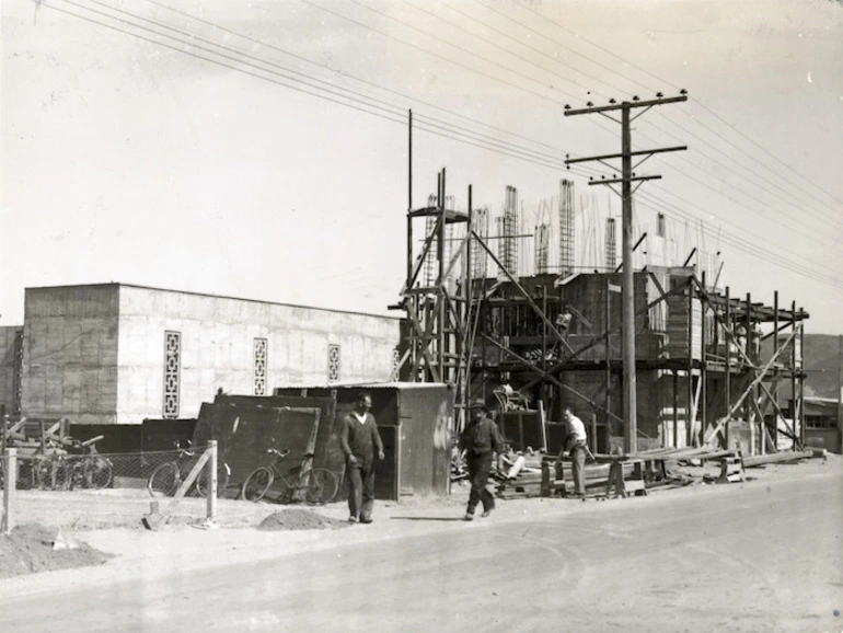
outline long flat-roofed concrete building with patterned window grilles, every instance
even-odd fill
[[[19,375],[24,416],[139,424],[196,417],[218,389],[389,380],[400,320],[101,284],[27,288],[22,336],[0,335],[8,412]]]

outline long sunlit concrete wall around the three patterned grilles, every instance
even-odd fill
[[[340,383],[389,379],[397,319],[120,286],[118,424],[160,417],[165,332],[181,333],[180,417],[218,388],[255,393],[254,341],[267,342],[266,394],[278,384],[326,384],[328,345]]]

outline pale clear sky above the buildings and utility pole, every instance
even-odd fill
[[[4,0],[0,325],[24,288],[120,281],[386,314],[413,206],[524,225],[575,183],[578,258],[620,204],[566,154],[643,113],[638,232],[720,253],[720,287],[843,334],[843,3],[835,0]],[[169,36],[169,37],[168,37]],[[590,233],[589,233],[590,231]],[[417,246],[416,246],[417,248]],[[593,249],[592,249],[593,251]],[[591,254],[591,257],[600,255]]]

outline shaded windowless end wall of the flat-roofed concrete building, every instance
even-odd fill
[[[118,286],[27,288],[22,413],[116,422]]]

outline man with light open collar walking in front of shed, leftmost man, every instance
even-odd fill
[[[355,410],[340,423],[339,446],[346,456],[346,475],[348,477],[348,521],[351,523],[371,523],[374,505],[374,450],[378,459],[383,460],[383,442],[378,433],[374,416],[369,413],[372,399],[361,393],[355,403]]]

